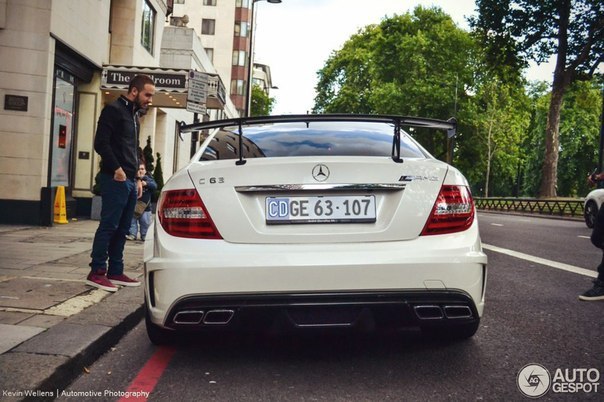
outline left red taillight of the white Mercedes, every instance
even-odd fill
[[[163,193],[157,216],[161,226],[172,236],[222,239],[195,189]]]

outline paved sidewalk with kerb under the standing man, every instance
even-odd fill
[[[143,317],[142,286],[85,285],[97,226],[0,225],[0,400],[64,389]],[[142,279],[143,243],[128,241],[124,260],[125,273]]]

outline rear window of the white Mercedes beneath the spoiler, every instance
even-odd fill
[[[243,127],[243,157],[391,156],[394,127],[386,123],[310,122]],[[401,157],[428,155],[401,130]],[[239,128],[221,129],[201,160],[239,158]]]

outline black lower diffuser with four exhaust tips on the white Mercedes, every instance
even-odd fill
[[[478,323],[463,291],[360,292],[190,296],[168,313],[164,327],[187,330],[391,328]]]

